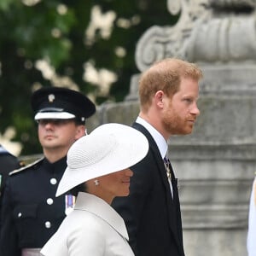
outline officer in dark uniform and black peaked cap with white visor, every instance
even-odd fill
[[[44,87],[32,95],[34,119],[44,157],[10,173],[3,195],[1,256],[40,255],[40,248],[55,233],[72,195],[55,197],[67,167],[67,151],[85,135],[85,119],[96,106],[83,94],[66,88]]]

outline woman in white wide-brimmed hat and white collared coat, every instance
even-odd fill
[[[106,124],[73,143],[56,196],[77,196],[73,212],[44,245],[45,256],[134,255],[123,218],[110,206],[129,195],[130,166],[148,153],[148,140],[130,126]]]

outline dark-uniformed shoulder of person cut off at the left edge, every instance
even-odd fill
[[[3,146],[0,144],[0,212],[2,207],[5,180],[9,176],[9,172],[19,169],[21,166],[23,166],[22,162],[15,155],[10,154],[9,151],[3,148]]]

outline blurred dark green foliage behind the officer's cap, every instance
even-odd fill
[[[67,76],[84,94],[96,96],[96,104],[120,102],[128,94],[131,75],[138,73],[134,54],[137,40],[150,26],[170,26],[177,21],[166,9],[166,1],[154,0],[28,0],[0,1],[0,132],[15,126],[14,141],[21,142],[21,154],[41,153],[30,97],[33,84],[52,85],[35,67],[37,60],[48,60],[55,73]],[[32,1],[30,1],[32,2]],[[115,12],[109,38],[100,32],[92,44],[84,44],[91,9]],[[65,12],[61,12],[61,8]],[[137,19],[131,26],[118,20]],[[54,36],[54,32],[56,35]],[[122,47],[125,55],[115,54]],[[93,61],[97,69],[116,73],[108,96],[98,96],[93,84],[84,82],[84,62]]]

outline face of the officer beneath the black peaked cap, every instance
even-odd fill
[[[84,125],[76,125],[73,119],[38,120],[38,138],[47,149],[69,148],[79,137],[84,136]]]

